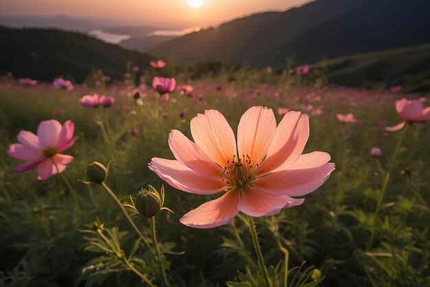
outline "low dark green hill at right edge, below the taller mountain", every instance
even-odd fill
[[[403,86],[403,91],[430,91],[430,43],[334,58],[327,62],[330,83],[349,87]]]

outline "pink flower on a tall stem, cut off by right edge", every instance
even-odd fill
[[[405,98],[398,100],[396,101],[396,111],[403,122],[396,126],[387,126],[385,130],[392,132],[400,130],[406,123],[430,121],[430,106],[424,108],[419,100],[406,100]]]

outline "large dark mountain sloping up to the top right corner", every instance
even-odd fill
[[[150,54],[194,63],[220,60],[252,67],[298,65],[430,42],[428,0],[317,0],[265,12],[156,45]]]

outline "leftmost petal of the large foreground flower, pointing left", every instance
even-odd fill
[[[152,158],[149,168],[172,187],[192,194],[216,194],[225,190],[227,184],[221,178],[194,172],[179,161]]]

